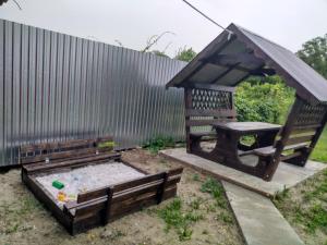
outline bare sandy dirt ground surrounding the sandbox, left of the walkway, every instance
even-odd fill
[[[178,162],[141,149],[126,151],[123,158],[153,173],[179,166]],[[217,206],[210,194],[199,191],[205,180],[205,175],[184,168],[179,184],[178,196],[184,208],[187,209],[197,203],[196,212],[202,217],[192,223],[193,233],[190,240],[182,242],[174,229],[167,231],[164,219],[158,216],[158,210],[167,207],[172,200],[73,237],[22,184],[20,170],[13,169],[0,173],[0,244],[243,244],[231,210]]]

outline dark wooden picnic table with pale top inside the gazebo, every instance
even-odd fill
[[[210,160],[237,168],[255,171],[250,166],[240,160],[240,156],[252,152],[256,148],[274,145],[276,135],[281,125],[264,122],[217,122],[210,124],[217,134],[217,144]],[[254,135],[255,142],[251,145],[244,145],[240,140],[243,136]]]

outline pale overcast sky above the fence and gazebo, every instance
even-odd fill
[[[189,0],[216,22],[231,22],[292,51],[327,33],[327,0]],[[73,36],[140,50],[148,37],[166,35],[155,49],[173,56],[179,47],[201,51],[221,29],[181,0],[9,0],[0,17]]]

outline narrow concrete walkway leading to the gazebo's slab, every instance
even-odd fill
[[[304,245],[269,198],[226,181],[222,185],[247,245]]]

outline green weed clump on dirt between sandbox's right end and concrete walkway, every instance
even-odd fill
[[[173,199],[169,205],[158,211],[158,215],[166,222],[166,231],[174,228],[180,241],[191,240],[193,230],[191,224],[203,219],[203,217],[193,210],[183,211],[182,200]]]

